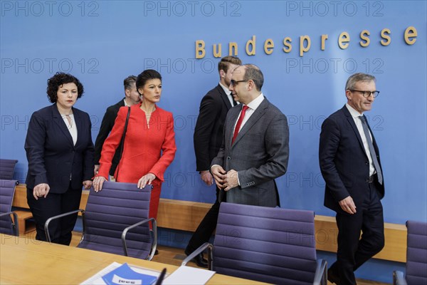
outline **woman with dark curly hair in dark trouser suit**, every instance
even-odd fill
[[[88,113],[73,108],[83,92],[77,78],[56,73],[48,79],[47,88],[53,105],[31,115],[25,141],[26,186],[38,240],[46,241],[46,220],[78,209],[82,185],[85,189],[92,185],[92,125]],[[52,242],[69,245],[76,219],[77,214],[73,214],[51,222]]]

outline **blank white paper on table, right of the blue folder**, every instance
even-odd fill
[[[190,266],[179,266],[179,269],[176,269],[174,272],[172,272],[172,274],[170,274],[166,279],[164,279],[162,284],[205,284],[209,279],[211,279],[212,276],[214,276],[214,274],[215,271],[199,269]]]

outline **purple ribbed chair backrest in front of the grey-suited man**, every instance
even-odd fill
[[[273,284],[312,284],[315,213],[221,203],[214,271]]]

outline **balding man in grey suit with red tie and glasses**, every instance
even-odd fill
[[[288,168],[289,128],[286,116],[261,92],[263,82],[263,73],[253,64],[233,71],[229,89],[241,104],[228,111],[211,172],[227,192],[227,202],[276,207],[275,178]]]

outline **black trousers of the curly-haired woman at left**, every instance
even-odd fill
[[[68,188],[67,192],[57,194],[49,192],[46,198],[40,197],[38,200],[33,197],[33,190],[27,190],[27,202],[30,206],[31,213],[36,220],[36,239],[47,241],[44,231],[46,220],[50,217],[65,212],[74,211],[80,206],[80,199],[82,197],[82,190],[72,190]],[[71,232],[74,229],[77,214],[71,214],[60,219],[53,220],[49,224],[49,234],[51,235],[51,242],[56,244],[70,245]]]

